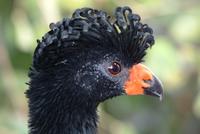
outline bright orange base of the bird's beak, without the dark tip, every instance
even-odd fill
[[[152,80],[153,74],[142,64],[133,65],[129,70],[129,78],[124,84],[127,95],[142,95],[145,88],[149,88],[150,84],[145,80]]]

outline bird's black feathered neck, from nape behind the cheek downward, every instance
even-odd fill
[[[84,96],[83,89],[73,82],[63,86],[64,78],[55,77],[49,73],[31,75],[26,92],[29,134],[95,134],[98,104]]]

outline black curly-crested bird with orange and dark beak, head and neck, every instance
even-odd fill
[[[29,69],[29,134],[96,134],[97,107],[120,95],[162,99],[161,81],[144,64],[153,30],[128,6],[113,17],[76,9],[51,23]]]

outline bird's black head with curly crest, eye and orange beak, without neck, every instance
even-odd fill
[[[30,84],[45,92],[40,96],[56,100],[59,94],[79,103],[98,104],[119,95],[162,98],[161,82],[142,64],[154,37],[140,19],[129,7],[118,7],[113,18],[82,8],[50,24],[50,31],[38,40]]]

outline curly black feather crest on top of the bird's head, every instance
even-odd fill
[[[51,23],[49,27],[51,30],[37,41],[33,58],[36,70],[55,66],[63,60],[65,51],[84,44],[77,42],[114,48],[132,63],[141,62],[146,49],[154,44],[152,29],[142,24],[140,16],[129,7],[118,7],[113,22],[104,11],[82,8],[77,9],[72,18]]]

